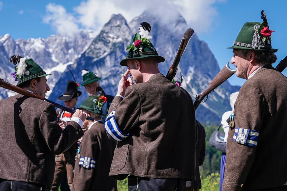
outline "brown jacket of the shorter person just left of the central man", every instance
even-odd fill
[[[108,139],[102,121],[87,130],[79,146],[81,157],[92,158],[94,168],[84,168],[76,159],[73,191],[116,191],[116,179],[109,177],[116,142]]]

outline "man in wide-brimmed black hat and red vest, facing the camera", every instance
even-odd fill
[[[78,101],[78,96],[80,96],[81,93],[82,92],[78,91],[77,83],[75,81],[69,80],[63,95],[60,95],[58,100],[64,101],[65,107],[69,109],[75,109],[75,105]],[[69,124],[71,121],[71,113],[60,109],[57,111],[57,116],[59,117],[59,125],[62,127],[62,129],[65,129],[67,124]],[[86,129],[83,129],[84,132],[85,130]],[[56,155],[56,168],[51,190],[58,191],[60,184],[61,189],[63,189],[63,185],[67,183],[70,190],[72,190],[75,167],[75,153],[77,148],[78,144],[75,142],[67,151]],[[67,179],[64,178],[65,176]]]

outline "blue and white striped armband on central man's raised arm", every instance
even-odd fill
[[[107,116],[107,119],[105,121],[105,129],[107,133],[116,141],[121,141],[129,136],[129,134],[125,135],[124,133],[122,133],[118,128],[118,125],[115,120],[115,111],[112,111]]]

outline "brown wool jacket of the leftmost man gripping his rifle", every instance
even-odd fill
[[[54,105],[21,94],[0,101],[0,178],[51,188],[55,155],[83,131],[71,121],[62,130]]]

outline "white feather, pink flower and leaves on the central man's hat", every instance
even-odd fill
[[[152,39],[152,36],[149,35],[149,32],[151,31],[151,26],[146,23],[142,22],[141,27],[139,27],[139,33],[136,33],[135,36],[132,39],[132,44],[128,45],[126,47],[126,50],[137,50],[139,49],[140,52],[142,52],[142,45],[146,44],[148,48],[151,48],[150,40]]]

